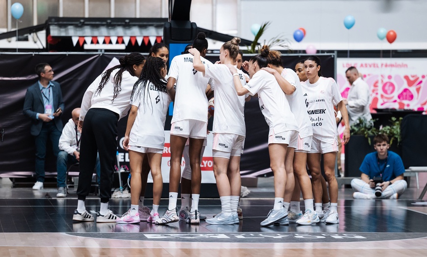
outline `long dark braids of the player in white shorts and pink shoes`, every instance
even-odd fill
[[[136,80],[135,84],[133,85],[131,94],[132,100],[134,100],[134,97],[137,97],[142,93],[142,101],[144,101],[145,92],[147,92],[148,97],[150,97],[150,90],[147,88],[149,83],[153,84],[157,88],[158,92],[166,92],[166,80],[160,73],[161,68],[166,69],[166,64],[164,63],[163,59],[153,56],[148,57],[144,68],[142,68],[141,76],[139,76],[138,80]],[[153,108],[151,109],[153,111]]]

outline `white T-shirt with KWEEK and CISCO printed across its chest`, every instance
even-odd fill
[[[338,135],[334,106],[343,100],[337,83],[331,77],[320,77],[314,84],[307,80],[301,82],[301,85],[307,94],[305,104],[313,127],[313,137],[333,144]]]

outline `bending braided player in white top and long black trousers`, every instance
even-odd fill
[[[101,162],[101,209],[97,222],[115,222],[117,216],[108,210],[111,198],[111,176],[117,151],[117,122],[129,110],[133,84],[141,74],[145,58],[133,52],[120,58],[116,65],[98,76],[87,88],[81,101],[78,128],[81,131],[78,203],[73,220],[93,221],[84,200],[89,194],[97,152]],[[83,127],[84,121],[84,127]]]

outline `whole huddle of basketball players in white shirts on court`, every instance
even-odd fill
[[[89,86],[80,111],[79,198],[73,220],[95,219],[86,211],[84,201],[89,193],[97,151],[101,161],[101,209],[96,215],[97,222],[168,224],[182,220],[199,224],[205,220],[206,216],[198,211],[200,163],[209,133],[208,99],[214,95],[213,173],[221,211],[206,219],[206,223],[232,225],[242,218],[240,155],[246,135],[244,103],[251,97],[258,98],[269,126],[266,140],[274,175],[273,208],[261,226],[290,222],[298,225],[339,223],[335,160],[341,142],[337,140],[337,114],[345,123],[344,144],[349,140],[349,125],[346,105],[335,80],[321,77],[317,56],[298,63],[295,73],[283,68],[280,52],[269,51],[267,46],[261,54],[242,63],[239,43],[239,38],[224,43],[219,61],[213,64],[204,58],[208,41],[204,33],[199,33],[191,48],[172,59],[167,75],[168,51],[160,44],[146,61],[139,53],[126,55],[120,59],[120,65],[101,74]],[[164,123],[172,101],[169,204],[160,216]],[[128,111],[123,147],[129,151],[131,207],[118,217],[107,207],[111,198],[117,121]],[[181,174],[183,155],[187,166]],[[320,172],[322,155],[326,180]],[[307,165],[312,180],[307,174]],[[143,204],[150,170],[153,177],[151,210]],[[180,182],[181,208],[178,210]],[[299,206],[300,192],[304,213]]]

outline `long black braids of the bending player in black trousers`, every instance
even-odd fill
[[[111,103],[114,102],[114,99],[117,97],[117,95],[120,93],[121,85],[122,85],[122,74],[125,71],[128,71],[132,76],[134,76],[133,73],[133,65],[140,65],[141,63],[144,63],[145,58],[142,54],[139,52],[132,52],[130,54],[126,54],[125,56],[121,57],[119,59],[120,64],[116,65],[112,68],[109,68],[107,71],[105,71],[102,75],[101,82],[99,83],[98,88],[95,91],[95,95],[101,94],[102,89],[107,84],[108,80],[110,79],[111,73],[115,69],[119,69],[119,71],[114,75],[114,96],[111,100]]]

